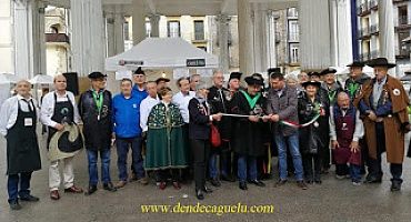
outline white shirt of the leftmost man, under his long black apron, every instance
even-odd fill
[[[23,100],[26,100],[27,102],[24,102]],[[31,101],[33,103],[31,103]],[[7,135],[7,131],[16,124],[17,115],[19,112],[18,102],[20,103],[21,111],[29,112],[30,109],[34,110],[36,117],[37,119],[39,119],[39,115],[38,115],[39,110],[37,109],[37,102],[34,99],[32,98],[24,99],[23,97],[19,94],[11,97],[4,101],[0,110],[0,133],[2,135]],[[30,109],[29,109],[29,105],[30,105]]]

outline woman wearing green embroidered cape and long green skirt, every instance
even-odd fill
[[[157,185],[164,190],[171,174],[174,189],[181,189],[179,169],[188,167],[187,144],[182,125],[184,121],[178,105],[171,103],[172,91],[159,92],[161,102],[154,105],[148,119],[146,170],[154,170]],[[170,173],[170,174],[169,174]]]

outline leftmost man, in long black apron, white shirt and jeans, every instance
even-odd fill
[[[30,194],[31,173],[41,169],[36,134],[37,110],[28,81],[17,83],[18,94],[4,101],[0,111],[0,133],[7,140],[9,204],[20,210],[20,201],[37,202]]]

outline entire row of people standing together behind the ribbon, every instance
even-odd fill
[[[278,154],[279,181],[295,176],[297,185],[321,183],[321,174],[335,164],[338,179],[352,184],[379,183],[382,179],[381,153],[390,163],[391,191],[402,183],[404,133],[410,130],[409,99],[399,80],[388,74],[385,58],[372,60],[375,78],[362,73],[364,63],[349,64],[350,77],[342,87],[337,70],[301,74],[298,79],[270,72],[264,87],[261,74],[244,78],[230,74],[224,87],[223,73],[213,72],[212,85],[200,75],[177,80],[172,93],[170,80],[146,81],[139,68],[132,79],[120,81],[121,92],[112,97],[106,89],[107,75],[89,74],[91,88],[79,102],[67,91],[63,75],[54,78],[54,91],[44,95],[40,111],[30,95],[28,81],[17,83],[17,95],[0,111],[0,133],[7,139],[8,192],[11,209],[20,201],[38,201],[30,193],[33,171],[41,169],[36,133],[38,119],[48,127],[50,198],[59,200],[59,164],[63,164],[66,193],[83,193],[74,185],[72,159],[87,150],[89,186],[98,190],[98,159],[104,190],[114,192],[130,181],[148,184],[152,178],[160,190],[168,182],[177,190],[181,182],[194,179],[196,196],[204,199],[220,186],[221,180],[265,186],[271,175],[272,155]],[[82,133],[81,127],[82,122]],[[113,141],[117,148],[119,182],[110,178]],[[128,153],[131,149],[131,172]]]

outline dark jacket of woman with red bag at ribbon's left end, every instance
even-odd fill
[[[204,111],[206,102],[202,104],[193,98],[189,102],[189,139],[209,140],[210,139],[210,115]]]

